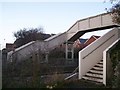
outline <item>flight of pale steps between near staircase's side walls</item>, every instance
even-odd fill
[[[103,60],[97,63],[82,79],[102,83],[103,82]]]

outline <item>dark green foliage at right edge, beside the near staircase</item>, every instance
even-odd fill
[[[111,49],[110,58],[114,72],[111,85],[114,88],[120,88],[120,41],[113,49]]]

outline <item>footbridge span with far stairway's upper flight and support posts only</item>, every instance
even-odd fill
[[[62,43],[66,43],[66,58],[68,59],[67,53],[69,51],[71,52],[73,59],[74,49],[71,49],[71,51],[68,50],[68,44],[73,44],[75,40],[87,32],[106,30],[118,26],[118,24],[112,21],[110,13],[104,13],[78,20],[66,32],[50,37],[45,41],[49,50]]]

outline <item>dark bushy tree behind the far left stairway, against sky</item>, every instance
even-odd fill
[[[51,35],[49,34],[43,33],[42,28],[24,28],[14,33],[14,37],[16,38],[14,44],[16,45],[16,48],[18,48],[31,41],[44,40],[50,36]]]

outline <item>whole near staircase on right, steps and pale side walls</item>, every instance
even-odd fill
[[[119,28],[115,27],[79,52],[79,79],[106,85],[108,61],[104,58],[103,63],[103,52],[119,38],[119,34]]]

